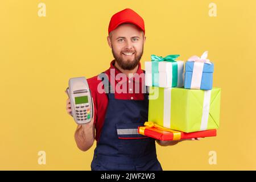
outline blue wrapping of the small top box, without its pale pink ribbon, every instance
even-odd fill
[[[193,75],[193,68],[194,68],[194,61],[187,61],[185,63],[185,75],[184,75],[184,88],[185,89],[193,89],[191,88],[191,81]],[[201,77],[201,90],[211,90],[212,89],[212,82],[213,82],[213,68],[214,65],[202,63],[204,64],[203,73]]]

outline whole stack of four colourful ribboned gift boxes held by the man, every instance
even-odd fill
[[[176,60],[179,55],[152,55],[145,62],[150,94],[148,121],[138,128],[140,134],[159,140],[216,136],[221,89],[212,88],[214,65],[207,56],[205,51],[184,64]]]

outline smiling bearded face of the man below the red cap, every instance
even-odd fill
[[[119,67],[127,70],[137,67],[145,40],[143,31],[131,23],[123,23],[110,32],[108,43]]]

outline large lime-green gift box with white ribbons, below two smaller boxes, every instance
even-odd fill
[[[218,129],[221,89],[194,90],[150,87],[148,121],[191,133]]]

